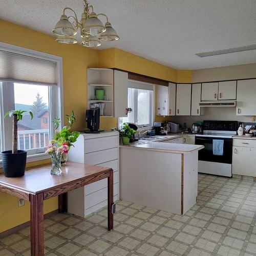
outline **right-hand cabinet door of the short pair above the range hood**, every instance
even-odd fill
[[[219,82],[219,100],[229,100],[237,98],[237,81]]]

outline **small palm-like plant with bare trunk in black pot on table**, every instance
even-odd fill
[[[18,150],[18,121],[22,120],[24,113],[29,113],[31,119],[33,118],[32,112],[22,110],[10,110],[5,113],[5,117],[13,118],[12,130],[12,150],[2,152],[4,174],[6,177],[21,177],[25,174],[27,151]]]

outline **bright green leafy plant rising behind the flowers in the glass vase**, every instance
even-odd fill
[[[76,118],[74,115],[74,111],[72,110],[71,115],[66,115],[68,124],[64,126],[60,131],[58,131],[58,127],[60,125],[60,118],[56,117],[53,121],[55,126],[55,136],[54,140],[57,142],[57,145],[60,147],[61,145],[67,146],[67,150],[70,150],[71,146],[74,146],[73,143],[76,142],[78,136],[80,135],[79,132],[73,131],[70,132],[72,125],[76,122]],[[68,159],[68,153],[62,154],[61,157],[61,164],[65,164]]]

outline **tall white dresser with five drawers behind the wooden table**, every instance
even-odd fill
[[[81,134],[68,158],[79,163],[111,167],[114,171],[114,201],[119,200],[119,133]],[[108,180],[103,179],[68,193],[68,212],[82,218],[106,206]]]

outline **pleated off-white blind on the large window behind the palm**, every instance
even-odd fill
[[[0,50],[0,80],[57,85],[56,62]]]

